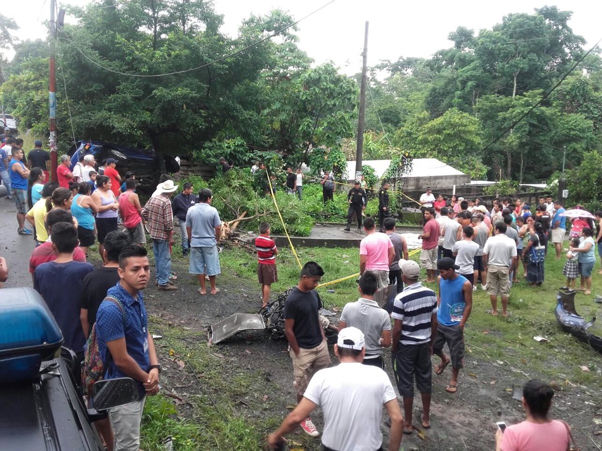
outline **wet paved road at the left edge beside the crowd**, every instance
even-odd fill
[[[34,250],[31,236],[17,235],[17,209],[13,200],[0,198],[0,256],[8,264],[5,287],[31,287],[29,256]],[[29,223],[27,223],[29,225]]]

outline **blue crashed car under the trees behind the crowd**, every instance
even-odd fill
[[[154,150],[133,149],[132,147],[120,146],[120,144],[107,143],[105,141],[78,141],[77,147],[72,146],[69,150],[71,157],[71,169],[75,167],[80,155],[94,155],[96,167],[101,165],[107,158],[117,160],[117,171],[120,176],[132,171],[142,189],[155,189],[161,175],[160,158],[165,161],[167,173],[176,173],[180,165],[171,155],[158,155]]]

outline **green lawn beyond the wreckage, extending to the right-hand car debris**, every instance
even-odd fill
[[[298,248],[296,251],[302,264],[308,260],[320,263],[325,272],[323,282],[359,271],[357,249]],[[417,260],[418,254],[412,258]],[[233,248],[222,253],[220,261],[224,271],[236,272],[256,284],[257,262],[254,256]],[[290,249],[281,248],[276,261],[279,281],[272,286],[273,296],[296,285],[299,278],[299,266]],[[564,259],[555,260],[554,250],[550,247],[545,265],[542,287],[530,287],[522,277],[519,277],[521,281],[518,284],[514,284],[510,293],[508,318],[487,313],[491,310],[489,295],[480,289],[474,292],[473,311],[465,330],[468,354],[486,361],[500,360],[504,365],[507,362],[527,374],[539,373],[556,381],[595,384],[602,388],[598,373],[602,369],[602,355],[563,332],[554,316],[556,290],[566,282],[562,275]],[[598,266],[596,269],[599,269]],[[521,268],[519,275],[522,274]],[[430,285],[436,289],[435,284]],[[334,293],[328,290],[334,290]],[[318,292],[326,308],[338,310],[358,298],[355,278],[318,288]],[[594,303],[598,292],[602,294],[602,277],[595,272],[592,295],[577,294],[575,301],[577,312],[586,320],[602,314],[602,305]],[[498,299],[498,308],[501,308],[501,299]],[[546,337],[550,342],[538,343],[533,340],[535,336]],[[580,366],[588,366],[591,371],[583,372]]]

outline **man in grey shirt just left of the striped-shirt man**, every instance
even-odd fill
[[[376,274],[372,271],[364,272],[358,281],[360,298],[343,307],[339,330],[346,327],[356,327],[361,330],[366,343],[364,365],[385,369],[382,349],[391,346],[391,319],[386,310],[380,308],[374,301],[377,286]]]

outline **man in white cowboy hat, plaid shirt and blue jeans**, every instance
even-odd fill
[[[107,169],[109,168],[107,167]],[[107,174],[107,170],[105,170],[105,174]],[[173,185],[173,180],[159,183],[157,191],[161,191],[161,194],[151,197],[140,213],[143,221],[146,222],[146,230],[152,238],[152,251],[157,268],[155,278],[162,291],[178,289],[169,281],[169,274],[172,270],[169,240],[173,234],[173,210],[169,198],[176,189],[178,189],[178,185]]]

